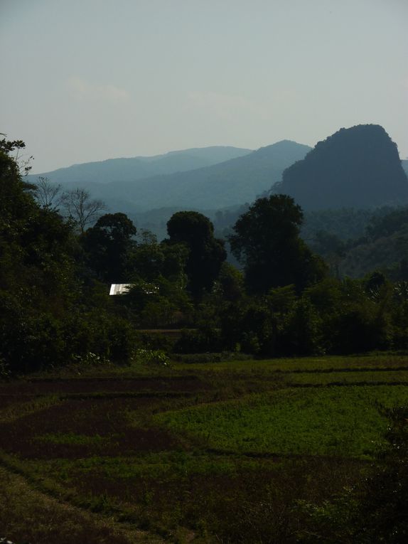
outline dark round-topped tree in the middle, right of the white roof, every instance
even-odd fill
[[[214,238],[213,223],[202,213],[183,211],[171,216],[167,223],[171,243],[188,247],[186,274],[188,290],[195,299],[210,291],[227,254],[224,242]]]

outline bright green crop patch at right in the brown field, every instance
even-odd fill
[[[408,403],[404,386],[283,389],[156,416],[171,432],[233,452],[369,457],[387,420],[375,402]]]

